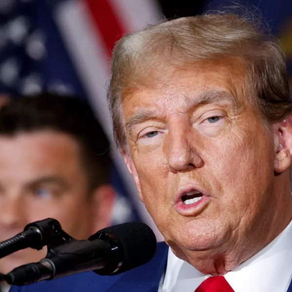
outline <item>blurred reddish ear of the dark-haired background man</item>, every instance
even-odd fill
[[[116,197],[114,188],[110,184],[97,187],[91,194],[91,216],[93,217],[92,234],[110,226],[111,210]]]

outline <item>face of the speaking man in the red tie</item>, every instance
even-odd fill
[[[174,252],[207,273],[200,258],[264,242],[279,209],[273,135],[233,72],[182,70],[122,102],[140,198]]]

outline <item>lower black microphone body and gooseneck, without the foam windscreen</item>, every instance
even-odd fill
[[[88,240],[77,240],[63,230],[61,234],[62,237],[47,244],[45,258],[15,268],[8,274],[0,274],[0,281],[22,286],[92,270],[109,275],[120,269],[122,246],[114,235],[96,233]]]

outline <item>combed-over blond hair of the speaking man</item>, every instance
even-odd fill
[[[127,92],[155,86],[171,70],[232,57],[245,64],[247,90],[265,121],[277,121],[292,112],[280,43],[251,14],[210,12],[165,21],[122,37],[113,49],[108,90],[117,146],[126,150],[128,145],[121,108]]]

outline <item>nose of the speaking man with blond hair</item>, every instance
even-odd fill
[[[203,160],[196,149],[196,139],[192,129],[182,127],[169,129],[165,142],[170,172],[177,173],[203,166]]]

